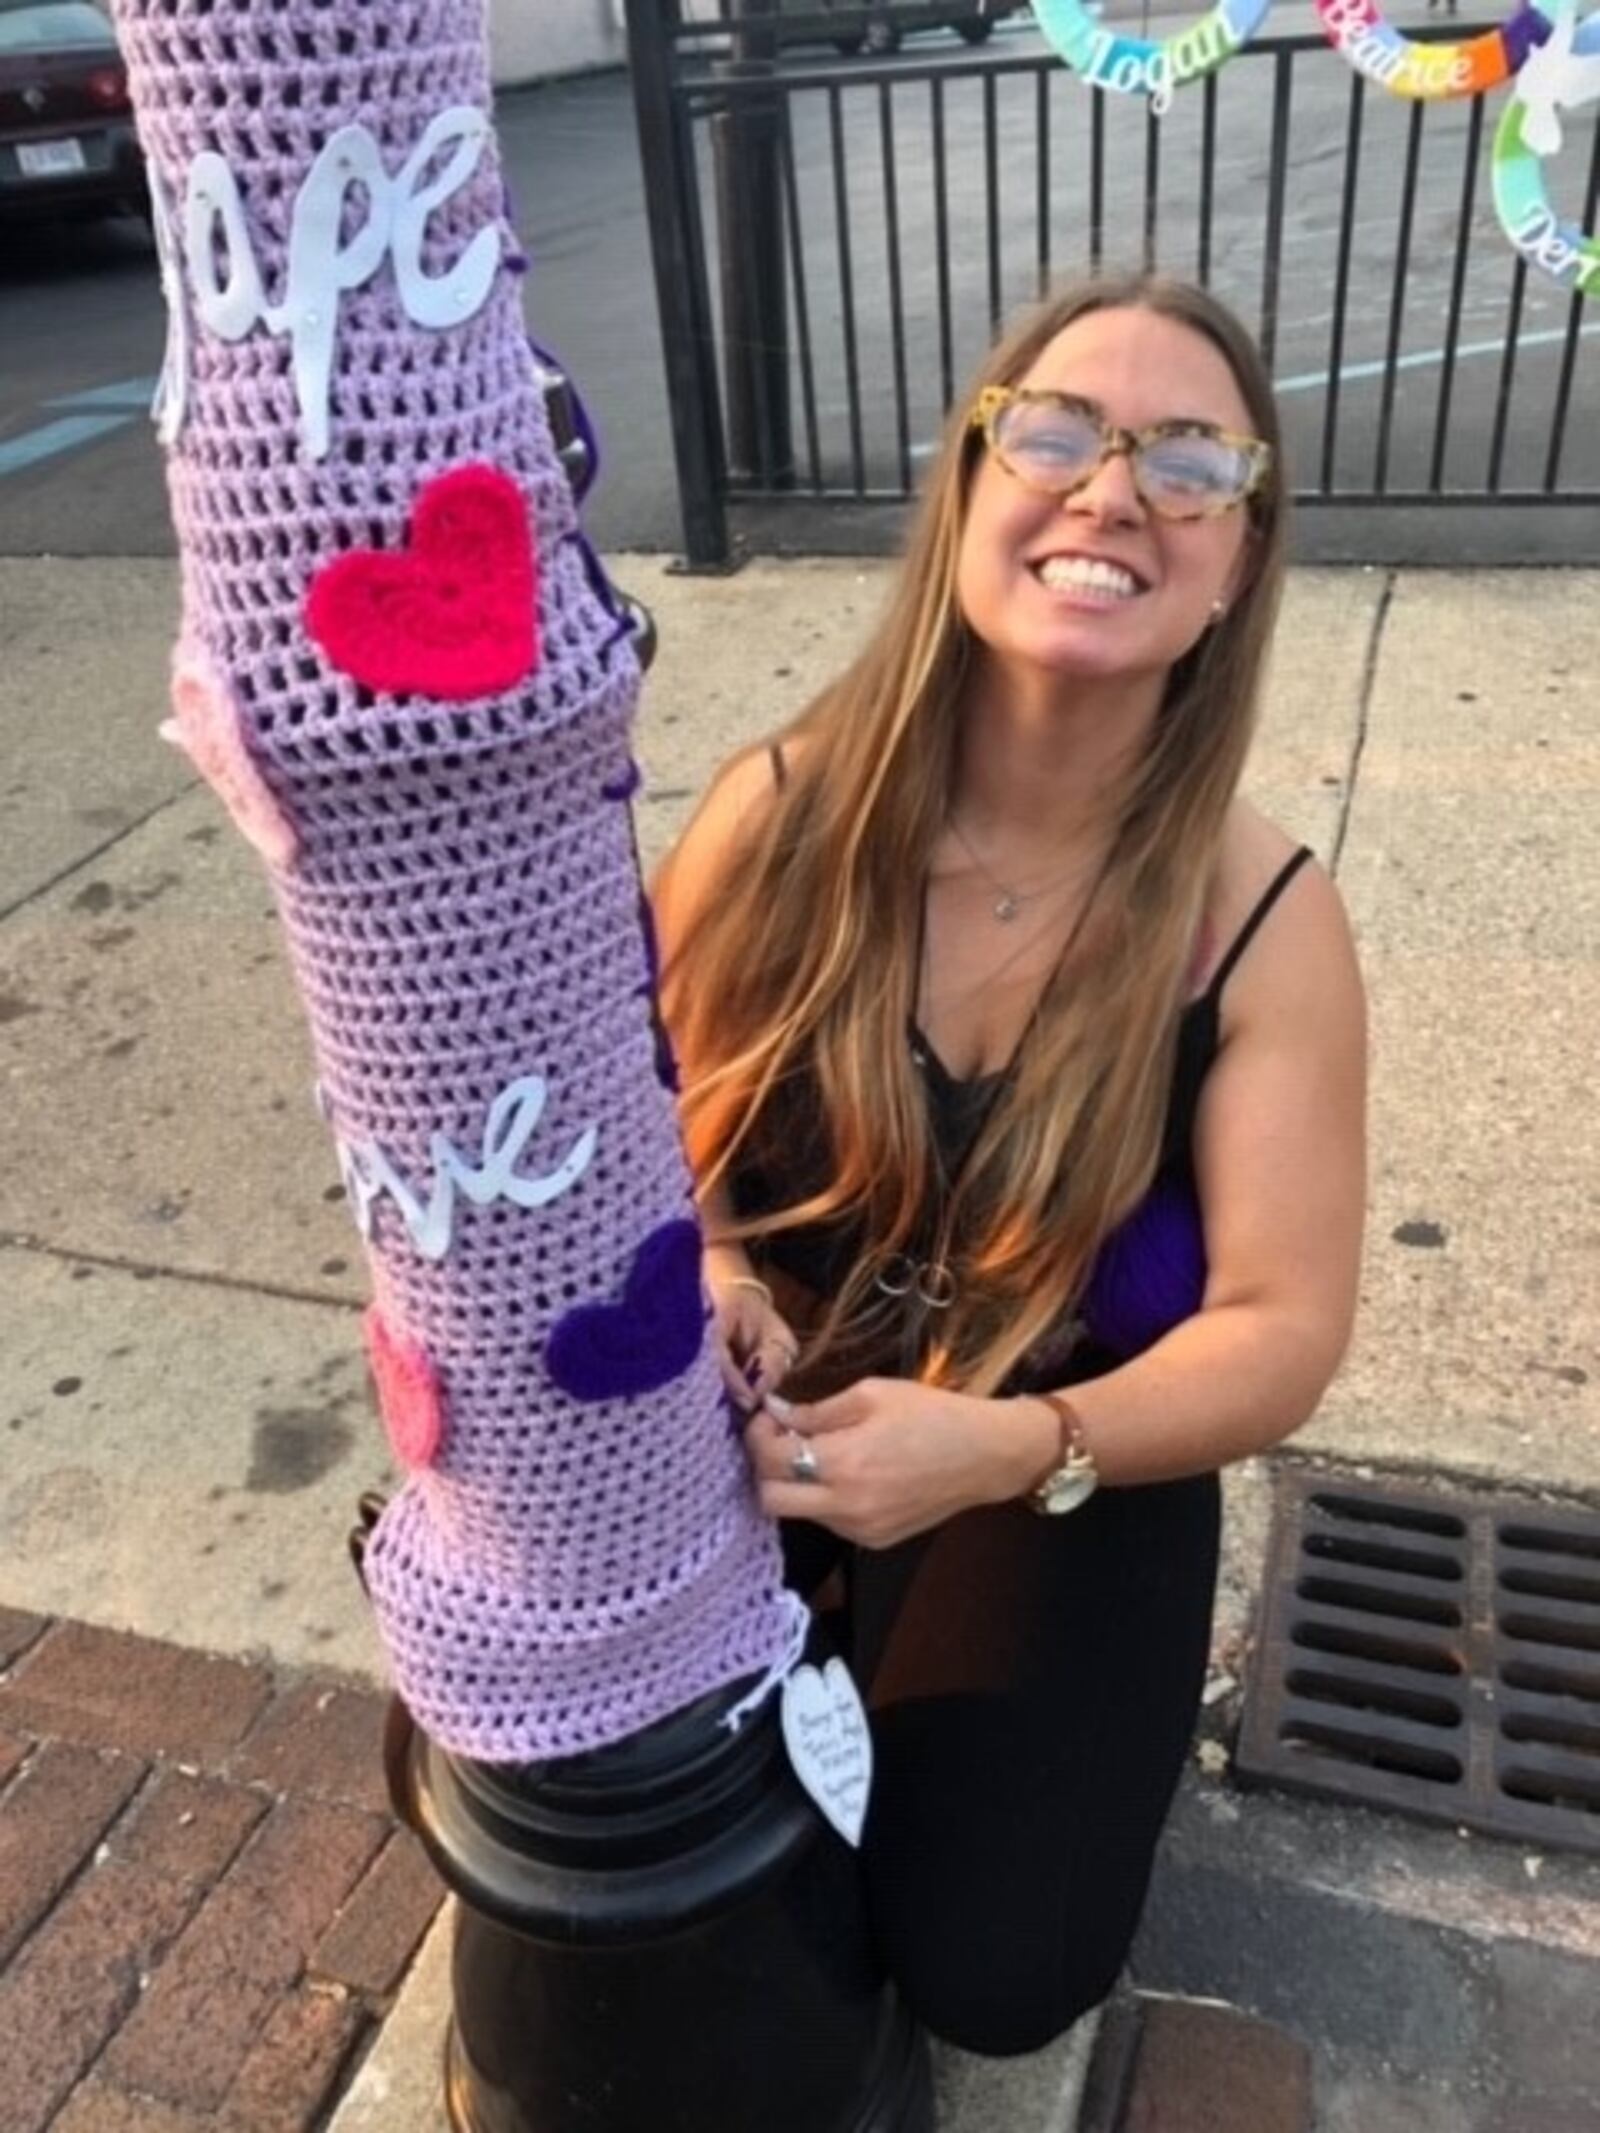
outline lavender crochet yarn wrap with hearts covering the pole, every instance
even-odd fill
[[[367,1587],[444,1747],[587,1751],[759,1694],[804,1608],[708,1333],[638,663],[521,322],[482,6],[113,15],[173,314],[173,738],[273,875],[412,1470]]]

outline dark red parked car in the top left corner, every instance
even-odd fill
[[[0,0],[0,215],[147,205],[107,17],[90,0]]]

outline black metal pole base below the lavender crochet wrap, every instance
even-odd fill
[[[459,1896],[457,2133],[932,2133],[855,1854],[738,1689],[617,1747],[506,1768],[390,1738],[397,1807]]]

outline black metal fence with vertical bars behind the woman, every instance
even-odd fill
[[[981,51],[796,43],[851,19],[785,15],[779,41],[770,0],[715,23],[629,0],[693,565],[727,559],[730,506],[777,546],[892,538],[1005,316],[1129,264],[1257,324],[1301,555],[1600,559],[1600,424],[1574,420],[1600,405],[1600,316],[1500,230],[1506,92],[1404,102],[1321,34],[1276,36],[1156,117],[1086,90],[1026,17]],[[1600,128],[1566,128],[1591,226]]]

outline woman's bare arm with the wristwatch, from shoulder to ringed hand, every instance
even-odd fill
[[[1365,1005],[1333,883],[1306,868],[1225,992],[1195,1126],[1210,1278],[1143,1354],[1065,1389],[1101,1480],[1171,1480],[1244,1459],[1316,1408],[1350,1337],[1365,1207]],[[1041,1399],[887,1378],[779,1412],[817,1438],[823,1485],[789,1480],[783,1427],[751,1431],[762,1495],[885,1546],[1054,1465]]]

